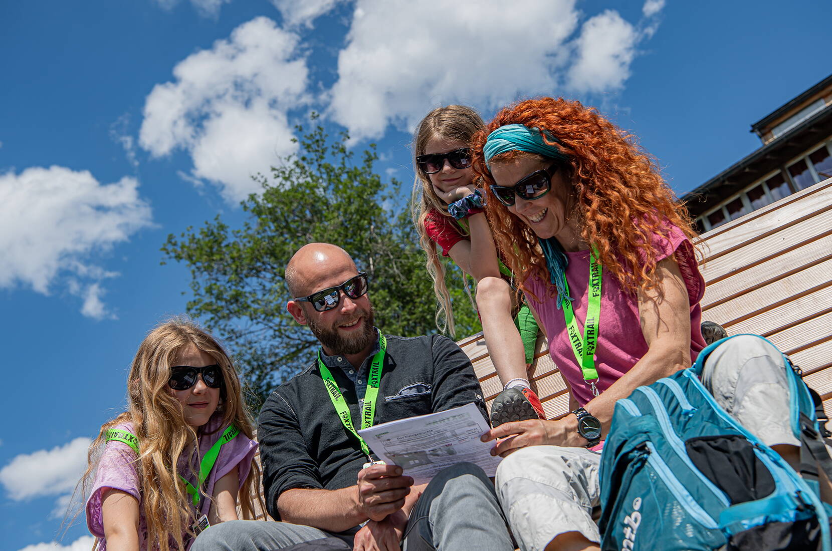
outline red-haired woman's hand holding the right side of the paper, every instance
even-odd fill
[[[577,433],[577,418],[569,415],[557,421],[529,419],[503,423],[495,429],[488,430],[480,440],[488,442],[496,438],[497,444],[491,449],[491,455],[506,455],[525,448],[527,445],[566,445],[585,446],[587,440]]]

